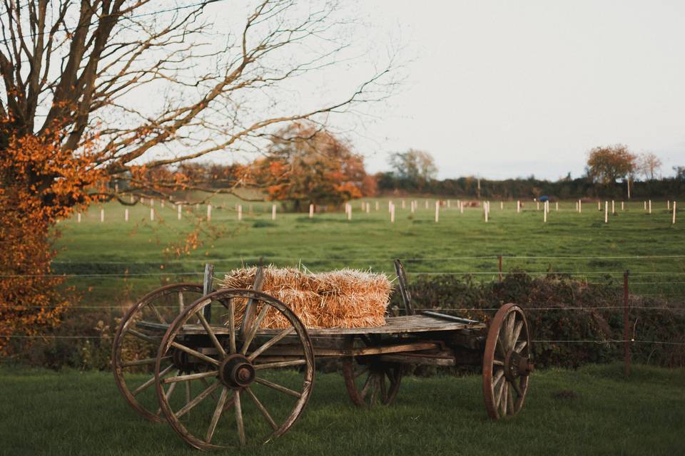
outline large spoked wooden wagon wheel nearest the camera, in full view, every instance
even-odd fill
[[[210,325],[203,309],[213,301],[226,310],[215,312]],[[245,315],[254,318],[243,326]],[[269,322],[279,328],[258,331]],[[165,378],[167,356],[192,373]],[[168,423],[193,447],[268,442],[288,431],[304,410],[314,367],[305,326],[288,306],[259,291],[222,289],[188,306],[164,334],[155,365],[157,396]],[[166,385],[181,382],[192,391],[187,403],[165,393]]]

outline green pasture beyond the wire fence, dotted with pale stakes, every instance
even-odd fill
[[[360,210],[361,201],[352,202],[351,220],[338,212],[317,213],[313,218],[285,214],[280,207],[276,219],[271,220],[270,203],[242,202],[243,220],[239,222],[234,210],[238,200],[217,197],[210,226],[218,229],[218,234],[212,236],[205,229],[203,244],[181,257],[165,253],[165,249],[183,244],[196,220],[193,216],[205,217],[205,206],[186,207],[184,210],[191,212],[184,212],[179,221],[176,208],[168,203],[162,208],[157,201],[156,218],[151,222],[149,203],[139,204],[129,209],[129,221],[125,222],[124,207],[110,203],[103,206],[105,222],[100,222],[100,208],[91,207],[80,224],[73,217],[59,225],[62,236],[56,244],[60,253],[54,269],[105,274],[79,276],[69,283],[86,291],[86,301],[109,305],[130,302],[162,284],[198,281],[205,261],[213,262],[221,273],[254,264],[262,257],[267,263],[303,264],[313,271],[352,267],[390,274],[392,259],[400,258],[410,274],[474,273],[477,280],[492,280],[497,276],[496,257],[501,254],[505,272],[557,271],[590,281],[607,281],[608,277],[621,281],[621,272],[630,269],[633,293],[685,294],[685,258],[616,258],[685,254],[685,219],[671,224],[665,201],[652,202],[652,214],[644,212],[641,201],[626,203],[624,211],[617,201],[617,214],[609,214],[608,224],[604,212],[597,210],[597,202],[584,203],[581,214],[576,212],[575,202],[559,203],[558,212],[552,203],[544,223],[542,204],[537,210],[534,202],[527,201],[517,213],[515,201],[504,202],[504,209],[492,201],[485,223],[481,208],[466,208],[460,214],[457,200],[452,199],[451,207],[443,206],[440,222],[435,223],[435,199],[417,199],[414,214],[410,212],[412,198],[404,199],[405,209],[402,198],[392,199],[395,223],[390,223],[387,198],[365,200],[370,204],[369,213]]]

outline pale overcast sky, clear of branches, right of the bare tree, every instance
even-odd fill
[[[343,2],[345,5],[345,2]],[[402,92],[355,147],[430,152],[440,177],[584,172],[617,142],[685,165],[685,1],[377,1],[360,16],[407,44]]]

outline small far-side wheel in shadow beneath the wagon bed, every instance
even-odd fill
[[[351,351],[354,343],[355,336],[345,338],[345,351]],[[400,390],[402,364],[383,363],[375,356],[345,356],[342,377],[347,394],[357,407],[391,405]]]

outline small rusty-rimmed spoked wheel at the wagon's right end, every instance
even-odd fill
[[[483,396],[490,418],[519,413],[532,370],[526,316],[516,304],[504,304],[490,323],[483,356]]]

